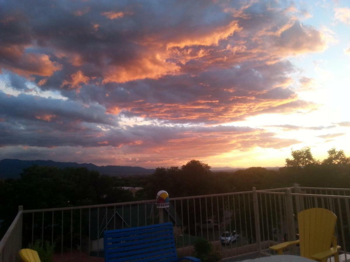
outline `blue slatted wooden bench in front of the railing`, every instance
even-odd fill
[[[106,230],[105,262],[119,261],[201,261],[196,257],[177,258],[173,224]]]

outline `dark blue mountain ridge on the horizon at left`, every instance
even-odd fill
[[[24,168],[32,165],[53,166],[58,168],[86,167],[89,170],[97,170],[100,174],[111,176],[148,175],[155,171],[155,169],[146,169],[142,167],[96,166],[92,163],[79,164],[76,162],[55,162],[52,160],[2,159],[0,160],[0,178],[17,178]]]

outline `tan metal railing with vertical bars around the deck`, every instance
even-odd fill
[[[291,188],[233,192],[170,199],[170,207],[156,209],[155,200],[19,210],[0,242],[0,262],[15,261],[21,246],[37,240],[56,245],[56,260],[95,260],[104,256],[103,232],[172,221],[178,254],[193,255],[194,242],[205,238],[223,258],[251,253],[272,255],[269,247],[294,240],[296,214],[322,207],[334,212],[338,244],[350,247],[350,189]],[[160,212],[161,216],[160,216]],[[23,224],[22,224],[23,219]],[[22,233],[22,234],[21,234]],[[298,252],[297,249],[292,250]],[[86,256],[88,258],[86,258]],[[347,257],[346,257],[347,256]]]

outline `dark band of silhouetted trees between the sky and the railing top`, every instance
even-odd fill
[[[310,148],[291,152],[285,167],[268,170],[251,167],[235,172],[211,172],[210,166],[191,160],[181,167],[159,167],[148,176],[113,177],[86,168],[32,166],[19,179],[0,180],[0,236],[24,209],[59,208],[154,199],[159,190],[170,198],[288,187],[350,188],[350,158],[331,148],[323,161]],[[123,186],[142,187],[135,196]],[[2,234],[1,234],[2,233]]]

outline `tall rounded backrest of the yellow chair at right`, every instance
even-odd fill
[[[323,208],[311,208],[299,212],[300,255],[311,256],[328,250],[332,243],[337,216]]]

